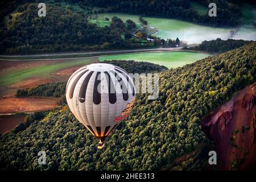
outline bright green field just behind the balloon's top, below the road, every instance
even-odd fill
[[[185,64],[190,64],[196,60],[208,57],[208,54],[188,52],[188,51],[175,51],[175,52],[150,52],[150,53],[129,53],[122,55],[102,56],[99,57],[100,61],[104,60],[135,60],[147,61],[159,65],[164,65],[167,68],[177,68]]]

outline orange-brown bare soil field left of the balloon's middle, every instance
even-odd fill
[[[53,109],[60,98],[54,97],[20,97],[0,100],[0,114],[32,113]]]

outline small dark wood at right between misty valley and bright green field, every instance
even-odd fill
[[[220,38],[216,40],[205,40],[197,47],[190,47],[186,49],[191,49],[195,51],[206,51],[209,53],[223,53],[230,51],[232,49],[236,49],[238,47],[242,47],[246,44],[252,43],[253,41],[249,40],[221,40]]]

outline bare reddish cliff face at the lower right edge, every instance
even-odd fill
[[[256,166],[256,82],[203,118],[201,126],[213,140],[221,169]]]

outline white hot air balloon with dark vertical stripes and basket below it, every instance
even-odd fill
[[[98,148],[125,119],[134,105],[135,86],[128,73],[115,65],[96,63],[79,68],[66,86],[68,106],[96,138]]]

